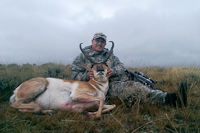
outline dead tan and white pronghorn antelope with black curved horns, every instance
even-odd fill
[[[104,104],[109,87],[107,69],[112,63],[112,60],[107,59],[112,54],[114,43],[112,42],[112,47],[103,62],[95,62],[83,51],[81,44],[80,50],[92,63],[81,64],[85,69],[93,71],[92,79],[88,82],[42,77],[30,79],[14,90],[10,97],[11,107],[21,112],[42,113],[52,113],[51,109],[82,112],[97,107],[97,112],[88,112],[90,118],[99,118],[102,113],[114,109],[115,105]]]

